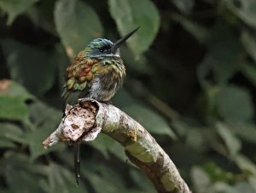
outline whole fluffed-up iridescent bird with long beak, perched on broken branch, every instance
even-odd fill
[[[139,27],[114,43],[105,38],[96,38],[77,54],[66,70],[66,82],[61,95],[63,113],[67,104],[75,105],[78,99],[90,98],[103,103],[110,102],[125,78],[125,65],[120,57],[119,46],[138,29]],[[73,145],[76,184],[79,186],[79,140]]]

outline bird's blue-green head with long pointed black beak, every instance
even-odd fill
[[[137,29],[131,31],[130,33],[126,34],[124,37],[121,37],[115,43],[105,38],[96,38],[93,41],[91,41],[85,48],[85,53],[87,56],[92,58],[112,56],[120,57],[119,46],[122,43],[125,43],[125,41],[129,37],[131,37],[138,29],[139,27],[137,27]]]

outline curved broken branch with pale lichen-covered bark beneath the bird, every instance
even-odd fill
[[[148,175],[158,192],[190,192],[170,157],[150,133],[113,105],[93,99],[80,100],[73,107],[68,105],[66,116],[44,140],[44,147],[59,141],[94,140],[99,132],[124,146],[128,158]]]

